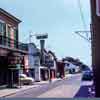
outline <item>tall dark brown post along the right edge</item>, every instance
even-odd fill
[[[100,97],[100,0],[90,0],[95,96]]]

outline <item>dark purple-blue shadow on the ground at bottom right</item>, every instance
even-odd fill
[[[89,85],[89,86],[81,86],[79,91],[74,96],[74,98],[80,98],[80,97],[91,98],[92,96],[90,95],[90,93],[88,91],[89,88],[91,88],[91,85]]]

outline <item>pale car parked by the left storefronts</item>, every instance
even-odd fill
[[[34,79],[25,74],[19,74],[19,81],[22,85],[32,85],[34,83]]]

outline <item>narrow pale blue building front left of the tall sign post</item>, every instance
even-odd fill
[[[31,77],[40,81],[40,51],[34,43],[28,44],[28,60]]]

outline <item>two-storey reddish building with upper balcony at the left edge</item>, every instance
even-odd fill
[[[16,64],[22,64],[23,55],[27,54],[19,42],[18,25],[21,21],[0,8],[0,85],[18,82]],[[13,74],[11,73],[13,71]]]

